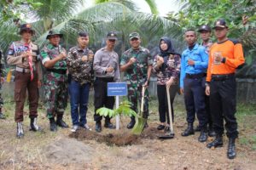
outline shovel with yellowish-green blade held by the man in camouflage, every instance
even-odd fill
[[[143,132],[144,126],[147,122],[147,119],[143,118],[145,90],[146,90],[146,88],[143,86],[141,111],[136,116],[136,123],[135,123],[135,125],[134,125],[134,127],[132,128],[132,131],[131,131],[134,134],[141,134]]]

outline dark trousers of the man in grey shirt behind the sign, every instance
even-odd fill
[[[99,122],[102,120],[102,116],[96,114],[96,111],[101,107],[107,107],[108,109],[113,109],[114,105],[114,97],[108,96],[108,82],[113,82],[111,78],[98,78],[96,77],[96,81],[94,82],[94,106],[95,106],[95,114],[94,121]],[[105,121],[109,122],[110,118],[108,116],[105,117]]]

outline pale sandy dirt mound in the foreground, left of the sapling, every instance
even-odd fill
[[[55,164],[90,162],[93,154],[93,148],[75,139],[61,138],[45,148],[47,160]]]

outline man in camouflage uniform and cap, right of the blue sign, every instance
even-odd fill
[[[120,70],[125,71],[125,80],[128,85],[128,99],[132,104],[131,109],[137,112],[137,99],[141,102],[142,87],[148,87],[153,59],[147,48],[140,46],[141,39],[137,32],[129,35],[131,48],[125,51],[120,62]],[[144,94],[143,117],[148,118],[148,89]],[[131,122],[127,128],[132,128],[135,124],[135,117],[131,116]],[[145,124],[148,127],[148,124]]]

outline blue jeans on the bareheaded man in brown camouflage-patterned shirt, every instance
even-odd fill
[[[81,85],[79,82],[72,80],[68,83],[68,91],[73,125],[84,126],[87,123],[86,113],[88,110],[90,83],[87,82]]]

